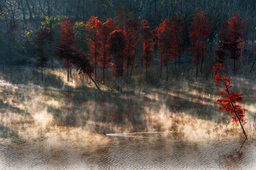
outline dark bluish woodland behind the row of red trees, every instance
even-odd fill
[[[166,65],[161,65],[160,69],[160,61],[158,59],[159,44],[157,44],[155,38],[156,28],[164,22],[164,19],[170,19],[172,16],[175,16],[181,18],[184,23],[182,31],[185,35],[186,50],[182,51],[180,58],[181,68],[179,70],[176,68],[176,62],[172,60],[167,61],[170,65],[166,75],[168,75],[168,71],[169,76],[175,75],[176,77],[177,75],[179,77],[184,74],[195,74],[197,71],[193,61],[193,51],[189,50],[189,47],[193,46],[189,36],[191,34],[189,27],[191,27],[191,23],[195,22],[195,14],[204,12],[203,15],[209,19],[209,25],[212,27],[209,29],[209,36],[205,40],[208,50],[205,58],[203,56],[204,63],[199,77],[208,78],[213,74],[211,68],[216,62],[215,51],[219,48],[221,40],[219,36],[222,28],[221,24],[232,18],[233,12],[236,12],[243,19],[244,23],[243,49],[241,57],[237,58],[236,69],[233,69],[234,59],[228,58],[229,54],[227,54],[224,61],[224,66],[230,72],[254,73],[255,56],[253,45],[255,43],[256,3],[253,0],[1,0],[0,11],[0,64],[3,65],[3,70],[5,67],[12,65],[35,66],[38,58],[35,50],[36,32],[46,26],[50,26],[53,40],[47,45],[46,53],[47,57],[49,57],[49,62],[44,67],[53,68],[60,66],[62,60],[56,57],[56,55],[54,56],[53,51],[54,46],[59,42],[60,27],[65,17],[70,20],[74,27],[77,42],[76,48],[78,50],[83,49],[82,51],[93,61],[93,57],[90,57],[88,53],[90,50],[88,46],[90,39],[87,36],[86,23],[88,23],[92,16],[95,16],[102,23],[112,18],[118,19],[119,24],[122,21],[134,18],[140,27],[142,27],[141,21],[147,20],[152,31],[152,40],[155,42],[153,46],[153,58],[155,60],[152,66],[150,66],[154,70],[147,73],[149,74],[147,79],[150,79],[150,73],[156,70],[160,71],[160,73],[154,73],[151,77],[158,77],[159,75],[161,77],[167,68]],[[120,27],[120,25],[115,26]],[[144,72],[145,61],[141,57],[144,54],[142,42],[143,40],[136,47],[134,65],[137,71],[142,69]],[[93,62],[91,62],[91,65],[94,68],[94,73],[95,69],[101,69],[101,66],[94,67]],[[135,73],[136,71],[133,74]],[[194,74],[187,78],[195,77]],[[96,75],[92,75],[96,78]],[[114,74],[113,76],[118,77],[118,75]],[[126,76],[126,71],[124,76]],[[165,80],[165,76],[163,77]],[[96,80],[102,81],[104,79],[100,75]],[[166,80],[168,81],[168,76],[166,76]]]

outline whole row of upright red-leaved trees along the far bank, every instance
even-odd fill
[[[116,17],[107,19],[102,23],[97,17],[92,16],[86,24],[86,42],[88,45],[87,59],[91,63],[94,78],[105,83],[105,71],[112,68],[112,75],[116,78],[132,75],[133,68],[138,66],[138,61],[146,68],[148,77],[148,67],[156,60],[154,47],[158,46],[158,61],[162,66],[166,66],[166,81],[168,81],[168,67],[170,63],[180,64],[180,58],[185,51],[184,24],[179,17],[164,19],[156,29],[151,30],[147,20],[137,22],[132,15],[124,15],[125,9],[116,12]],[[230,58],[235,60],[241,56],[243,46],[242,34],[243,21],[236,13],[228,21],[222,24],[220,31],[219,49],[216,50],[216,60],[222,62],[225,59],[226,51],[229,51]],[[188,28],[190,40],[189,50],[192,51],[192,64],[196,64],[196,78],[198,74],[198,64],[201,63],[201,73],[204,58],[208,55],[210,32],[212,26],[204,12],[195,14],[194,22]],[[118,36],[115,34],[118,33]],[[76,49],[76,34],[71,22],[66,18],[62,22],[60,29],[60,42],[56,46],[55,55],[64,59],[66,68],[72,65],[72,55]],[[116,39],[115,39],[116,38]],[[65,47],[65,52],[58,46]],[[59,49],[59,51],[58,51]],[[84,54],[85,55],[85,54]],[[73,63],[74,64],[74,63]],[[126,70],[124,69],[126,68]],[[180,68],[180,67],[179,67]],[[101,70],[103,77],[97,77],[97,70]],[[91,69],[90,69],[91,70]],[[161,75],[160,75],[161,76]]]

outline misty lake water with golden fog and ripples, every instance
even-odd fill
[[[254,83],[235,86],[255,122]],[[184,81],[131,95],[0,85],[0,169],[255,169],[255,142],[225,138],[220,88]]]

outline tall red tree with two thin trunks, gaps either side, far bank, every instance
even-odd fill
[[[197,79],[197,70],[198,64],[201,60],[201,73],[203,67],[203,58],[207,57],[207,39],[210,36],[210,28],[208,17],[204,16],[204,12],[198,12],[195,14],[194,22],[191,22],[189,27],[189,38],[190,43],[192,44],[189,47],[189,50],[194,51],[192,64],[196,64],[196,79]]]

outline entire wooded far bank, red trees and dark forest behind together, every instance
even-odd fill
[[[159,65],[168,81],[191,63],[197,79],[215,62],[252,72],[256,59],[252,0],[1,0],[0,11],[0,64],[33,64],[42,81],[58,59],[68,78],[76,66],[103,84],[106,70],[119,81]]]

